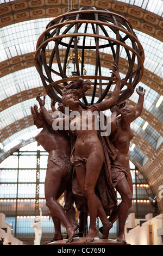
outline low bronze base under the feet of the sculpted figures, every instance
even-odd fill
[[[99,237],[95,237],[93,242],[85,243],[84,237],[74,237],[71,243],[67,242],[67,239],[58,240],[54,242],[50,242],[47,245],[57,245],[57,246],[108,246],[108,245],[129,245],[128,243],[121,243],[114,239],[101,239]]]

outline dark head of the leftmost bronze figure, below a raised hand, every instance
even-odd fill
[[[45,117],[43,116],[43,112],[41,108],[38,109],[37,105],[34,105],[34,107],[30,107],[30,109],[33,115],[34,125],[36,125],[38,129],[42,128],[46,120],[45,120]]]

